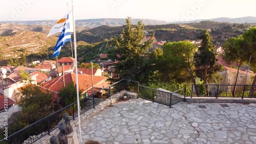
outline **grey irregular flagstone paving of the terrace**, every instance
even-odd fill
[[[82,122],[82,141],[256,143],[256,105],[227,103],[227,106],[181,102],[169,108],[143,99],[130,99],[112,104]]]

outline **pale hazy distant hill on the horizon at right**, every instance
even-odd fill
[[[217,22],[231,22],[231,23],[256,23],[256,17],[254,16],[246,16],[246,17],[238,17],[238,18],[229,18],[229,17],[218,17],[211,19],[197,19],[191,21],[174,21],[169,23],[192,23],[192,22],[200,22],[203,20],[217,21]]]

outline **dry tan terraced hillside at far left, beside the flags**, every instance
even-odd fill
[[[1,59],[17,58],[22,51],[26,55],[46,53],[48,47],[54,46],[57,37],[45,38],[47,34],[41,32],[12,32],[9,36],[0,37]]]

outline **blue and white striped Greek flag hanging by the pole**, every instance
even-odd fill
[[[65,44],[67,41],[71,41],[71,30],[70,30],[70,25],[69,25],[69,14],[67,16],[67,20],[64,23],[64,26],[62,28],[62,31],[59,35],[59,39],[54,47],[54,53],[52,55],[52,58],[59,56],[61,46]]]

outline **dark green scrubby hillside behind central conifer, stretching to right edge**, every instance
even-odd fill
[[[230,36],[238,36],[254,25],[245,25],[239,23],[201,21],[193,23],[175,23],[167,25],[150,25],[144,29],[148,32],[148,36],[155,33],[157,40],[179,41],[184,39],[197,39],[203,30],[212,30],[212,36],[218,42]],[[100,26],[90,30],[83,30],[77,35],[78,40],[94,43],[118,36],[123,30],[122,26]]]

